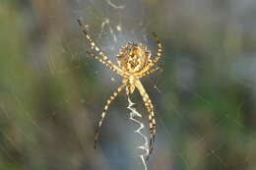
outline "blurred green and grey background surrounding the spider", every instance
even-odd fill
[[[152,31],[163,44],[162,70],[142,79],[158,125],[149,169],[255,170],[255,16],[252,0],[1,0],[0,169],[143,169],[124,92],[94,149],[121,80],[86,55],[81,19],[112,60],[128,40],[156,54]]]

